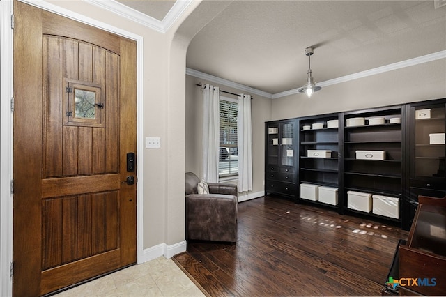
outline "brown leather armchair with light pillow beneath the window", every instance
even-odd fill
[[[199,178],[186,173],[186,238],[237,241],[237,186],[208,183],[209,194],[198,194]]]

